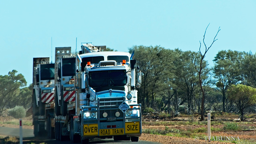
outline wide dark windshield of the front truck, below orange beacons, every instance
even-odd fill
[[[126,70],[102,70],[89,72],[89,86],[124,86],[127,83]]]

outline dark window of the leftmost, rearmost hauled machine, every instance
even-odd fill
[[[40,80],[54,80],[54,64],[40,64]]]

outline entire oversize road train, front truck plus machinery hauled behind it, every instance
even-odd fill
[[[35,136],[46,132],[49,138],[55,134],[56,140],[70,138],[72,143],[92,138],[138,141],[141,72],[136,60],[128,52],[105,52],[106,46],[81,48],[76,57],[71,47],[56,48],[55,64],[34,58]]]

